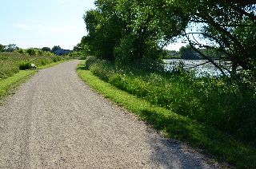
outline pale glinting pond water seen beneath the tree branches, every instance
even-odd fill
[[[207,60],[165,59],[164,62],[167,71],[182,65],[186,70],[195,71],[196,77],[203,76],[203,74],[209,74],[210,76],[214,77],[222,75],[221,71],[217,67],[211,63],[206,63]],[[228,67],[230,67],[230,63],[226,62],[226,68]]]

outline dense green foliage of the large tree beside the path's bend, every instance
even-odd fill
[[[100,59],[116,61],[119,65],[145,59],[158,61],[163,57],[162,47],[168,44],[168,38],[181,33],[182,22],[170,18],[168,22],[175,26],[168,27],[173,28],[172,34],[164,35],[166,26],[159,27],[159,24],[166,25],[167,18],[159,21],[158,15],[162,13],[156,14],[140,2],[98,0],[95,4],[97,9],[84,15],[88,34],[81,44]]]

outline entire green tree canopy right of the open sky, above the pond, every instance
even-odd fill
[[[97,0],[84,15],[82,45],[96,57],[126,62],[158,61],[162,49],[182,37],[218,69],[255,71],[256,5],[237,0]],[[200,49],[231,61],[232,69]]]

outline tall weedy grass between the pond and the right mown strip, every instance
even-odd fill
[[[138,65],[120,69],[106,61],[91,65],[90,70],[102,80],[152,104],[256,146],[255,90],[242,81],[194,77],[182,72],[146,72]]]

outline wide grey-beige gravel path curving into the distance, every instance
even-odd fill
[[[0,107],[0,168],[215,168],[99,96],[78,63],[40,70]]]

